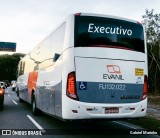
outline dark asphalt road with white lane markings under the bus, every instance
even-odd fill
[[[65,122],[45,115],[44,113],[34,116],[31,113],[31,105],[25,102],[20,102],[16,93],[12,91],[11,88],[5,90],[4,110],[0,111],[0,138],[16,138],[17,136],[27,138],[158,137],[152,134],[135,134],[136,132],[141,133],[141,131],[141,127],[128,124],[125,121],[90,120]]]

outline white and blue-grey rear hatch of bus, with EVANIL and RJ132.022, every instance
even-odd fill
[[[143,61],[75,57],[79,101],[139,102],[143,93],[144,63]]]

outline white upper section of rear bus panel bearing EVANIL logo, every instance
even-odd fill
[[[144,75],[136,76],[136,68],[144,72],[145,62],[75,57],[76,80],[88,82],[138,83]],[[110,78],[110,79],[109,79]]]

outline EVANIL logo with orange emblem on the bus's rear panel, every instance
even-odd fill
[[[121,74],[120,67],[117,65],[107,65],[107,74],[103,74],[103,79],[109,80],[124,80]]]

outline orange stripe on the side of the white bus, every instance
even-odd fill
[[[34,90],[36,89],[37,77],[38,77],[38,72],[29,73],[28,90],[30,93],[32,92],[33,89]]]

